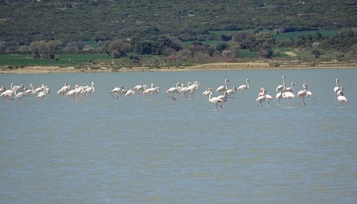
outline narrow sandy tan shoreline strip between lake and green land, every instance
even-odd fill
[[[198,70],[280,70],[280,69],[357,69],[357,63],[347,62],[320,62],[312,63],[284,63],[284,62],[241,62],[241,63],[208,63],[188,67],[134,67],[112,69],[105,66],[100,68],[75,68],[59,66],[27,66],[21,68],[0,67],[2,74],[21,74],[21,73],[80,73],[80,72],[156,72],[156,71],[198,71]]]

